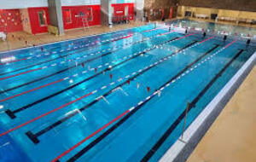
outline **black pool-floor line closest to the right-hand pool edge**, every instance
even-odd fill
[[[196,106],[196,103],[201,99],[201,97],[203,95],[206,94],[207,90],[209,90],[212,87],[212,84],[214,84],[217,79],[219,77],[222,76],[222,74],[225,72],[225,70],[230,67],[230,65],[236,61],[236,58],[241,55],[241,53],[243,52],[243,49],[241,49],[216,75],[214,78],[212,78],[212,80],[207,84],[207,86],[201,90],[201,92],[195,97],[195,99],[189,104],[188,107],[188,113],[189,111]],[[172,134],[172,131],[175,130],[175,128],[177,127],[177,125],[183,121],[183,118],[186,115],[186,109],[183,111],[183,113],[181,113],[179,115],[179,117],[175,120],[174,123],[172,123],[170,125],[170,127],[168,128],[168,130],[166,130],[166,132],[163,134],[163,136],[160,137],[159,141],[156,142],[154,144],[154,146],[148,151],[148,153],[143,157],[143,159],[141,160],[142,162],[146,162],[148,161],[148,159],[150,159],[154,153],[157,152],[157,150],[160,148],[160,146],[166,141],[166,139],[168,138],[168,136],[170,136]]]

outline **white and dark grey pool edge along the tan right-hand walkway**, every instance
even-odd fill
[[[213,100],[204,108],[198,117],[184,131],[183,142],[177,140],[171,148],[160,158],[160,162],[186,161],[206,134],[212,123],[217,119],[218,114],[224,109],[231,97],[242,84],[254,65],[256,64],[256,52],[245,62],[236,74],[225,84],[224,88],[216,95]],[[179,137],[179,139],[181,136]]]

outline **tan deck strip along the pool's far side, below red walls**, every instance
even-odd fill
[[[145,25],[144,22],[131,21],[130,24],[116,25],[116,26],[113,26],[112,28],[108,26],[91,26],[89,29],[86,29],[85,31],[83,28],[66,30],[65,35],[63,36],[55,36],[49,33],[32,35],[27,32],[12,32],[11,34],[8,35],[9,41],[3,42],[2,39],[0,40],[0,52],[9,50],[9,49],[20,49],[20,48],[30,47],[33,44],[38,45],[43,43],[59,42],[67,39],[80,38],[84,36],[101,34],[104,32],[114,32],[114,31],[119,31],[123,29],[128,29],[131,27],[143,26],[143,25]],[[26,41],[27,41],[27,44],[26,44]]]

